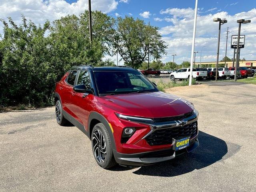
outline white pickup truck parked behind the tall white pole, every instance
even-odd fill
[[[190,76],[190,68],[182,68],[178,71],[174,71],[170,74],[171,81],[175,81],[176,79],[188,79]],[[206,78],[207,77],[207,71],[196,71],[195,68],[193,68],[192,71],[192,78]]]

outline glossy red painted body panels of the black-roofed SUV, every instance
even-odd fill
[[[83,93],[75,92],[73,86],[66,82],[68,74],[69,72],[56,83],[55,89],[63,110],[82,124],[88,133],[90,133],[88,118],[90,114],[96,112],[103,116],[112,126],[114,145],[116,151],[121,154],[170,149],[172,144],[149,145],[145,139],[142,139],[151,130],[148,124],[118,118],[116,113],[144,118],[164,118],[180,116],[194,110],[183,99],[160,91],[106,96],[89,94],[83,97]],[[126,143],[122,143],[122,132],[126,127],[136,128],[136,132]],[[197,138],[197,136],[198,130],[191,139]]]

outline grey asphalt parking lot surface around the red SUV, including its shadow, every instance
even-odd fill
[[[200,146],[152,166],[104,170],[54,108],[0,113],[0,191],[256,191],[256,85],[175,87],[199,111]]]

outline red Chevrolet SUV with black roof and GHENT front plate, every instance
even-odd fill
[[[102,168],[154,164],[198,147],[198,111],[130,67],[74,66],[56,83],[56,120],[92,142]]]

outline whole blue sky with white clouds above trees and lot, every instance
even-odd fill
[[[113,17],[133,16],[158,26],[162,39],[168,45],[167,55],[162,58],[163,62],[172,61],[172,54],[177,54],[175,60],[178,64],[190,60],[195,0],[91,0],[91,2],[92,10],[101,10]],[[46,19],[53,21],[67,14],[79,15],[87,8],[88,0],[19,0],[15,2],[1,0],[0,18],[7,19],[11,16],[14,21],[20,22],[20,14],[24,14],[33,22],[40,24]],[[227,24],[222,25],[220,58],[225,55],[225,30],[229,27],[227,55],[232,57],[230,35],[237,34],[236,20],[244,18],[252,20],[252,23],[242,25],[241,33],[246,35],[246,43],[240,57],[256,60],[256,0],[198,0],[195,51],[200,52],[202,49],[202,61],[216,60],[218,23],[212,22],[216,17],[228,20]],[[0,30],[2,30],[1,27],[0,24]],[[115,57],[112,59],[115,60]],[[196,61],[199,60],[200,54],[196,56]]]

